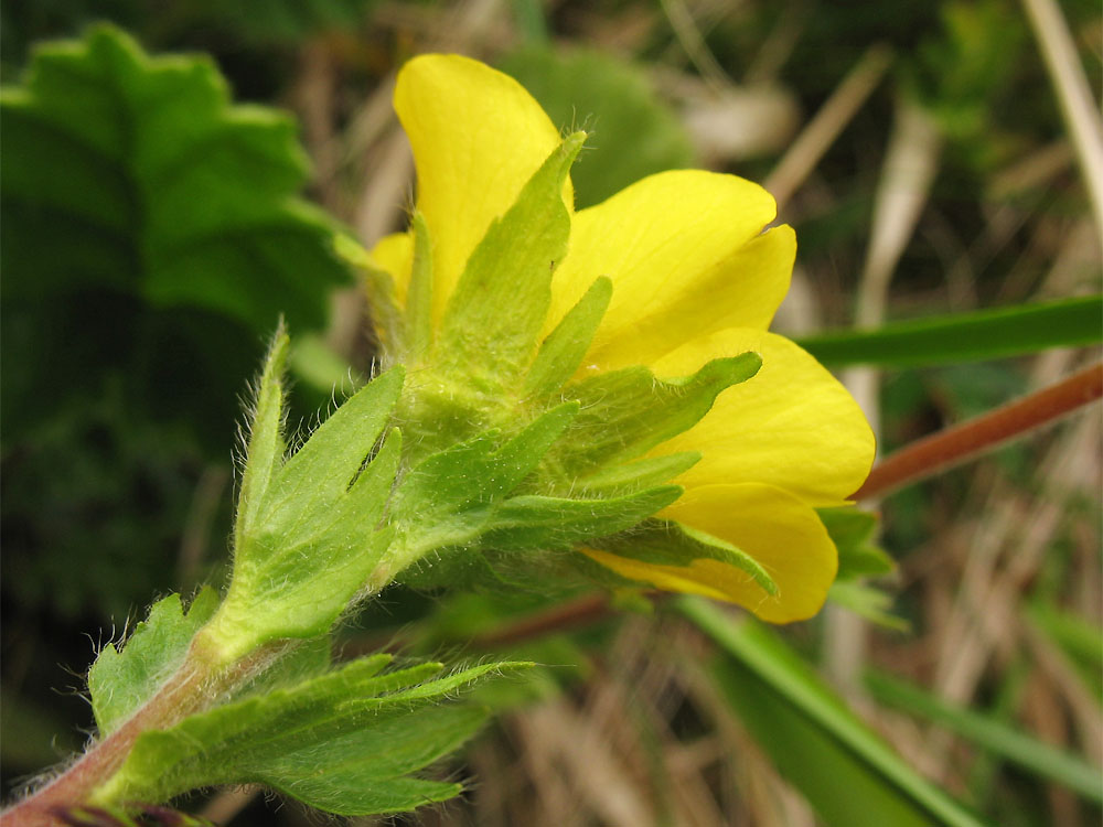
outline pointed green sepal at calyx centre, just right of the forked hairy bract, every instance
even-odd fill
[[[496,431],[432,454],[406,474],[395,494],[392,572],[435,549],[463,546],[493,528],[495,507],[544,459],[578,414],[567,402],[504,444]]]

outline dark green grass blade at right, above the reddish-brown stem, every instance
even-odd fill
[[[1101,318],[1103,296],[1089,296],[824,333],[797,344],[825,365],[940,365],[1099,344]]]

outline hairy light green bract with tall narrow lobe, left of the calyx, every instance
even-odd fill
[[[280,368],[286,353],[287,335],[280,332],[257,395],[234,535],[234,577],[204,631],[225,663],[271,641],[325,634],[365,587],[390,541],[381,523],[401,439],[392,430],[382,445],[377,440],[401,391],[401,369],[361,388],[285,461]]]

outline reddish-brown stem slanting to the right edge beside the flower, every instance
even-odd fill
[[[874,468],[854,498],[882,497],[904,485],[960,465],[1036,428],[1054,422],[1101,396],[1103,363],[900,449]]]

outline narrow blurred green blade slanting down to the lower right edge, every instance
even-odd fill
[[[866,686],[881,704],[933,721],[978,747],[1043,778],[1103,804],[1103,770],[983,712],[947,704],[903,680],[870,673]]]

